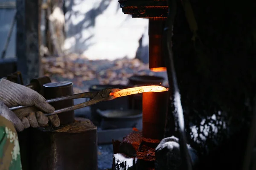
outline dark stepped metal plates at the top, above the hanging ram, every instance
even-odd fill
[[[134,18],[167,17],[166,0],[119,0],[124,14]]]

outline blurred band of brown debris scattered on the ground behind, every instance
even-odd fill
[[[44,75],[52,81],[72,81],[74,93],[81,93],[93,84],[126,85],[134,74],[154,75],[148,64],[139,59],[89,60],[78,54],[42,57],[42,66]],[[167,86],[167,81],[163,85]]]

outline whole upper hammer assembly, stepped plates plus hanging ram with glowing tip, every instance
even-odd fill
[[[123,13],[134,18],[148,18],[149,68],[166,71],[163,31],[168,14],[166,0],[119,0]]]

